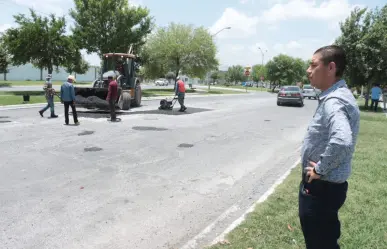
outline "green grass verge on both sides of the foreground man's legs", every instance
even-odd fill
[[[343,249],[387,248],[386,127],[384,113],[362,111],[348,197],[340,210]],[[210,248],[305,248],[298,220],[300,175],[298,166],[225,241]]]

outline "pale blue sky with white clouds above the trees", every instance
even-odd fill
[[[214,36],[220,69],[231,65],[266,63],[283,53],[309,59],[321,46],[332,44],[340,35],[339,23],[356,7],[373,9],[385,0],[129,0],[150,10],[157,26],[171,22],[204,26]],[[14,27],[13,15],[28,13],[65,15],[73,0],[0,0],[0,32]],[[260,48],[260,49],[259,49]],[[262,51],[262,52],[261,52]],[[84,53],[92,65],[95,54]]]

